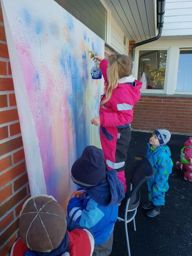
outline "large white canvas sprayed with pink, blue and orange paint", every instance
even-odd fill
[[[85,146],[100,147],[103,79],[93,80],[89,50],[104,41],[53,0],[1,0],[31,195],[65,208],[71,165]]]

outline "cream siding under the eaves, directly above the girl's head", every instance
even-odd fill
[[[126,45],[123,44],[124,33],[115,21],[114,17],[111,16],[111,42],[110,46],[113,47],[117,52],[121,54],[129,53],[129,40],[126,37]]]

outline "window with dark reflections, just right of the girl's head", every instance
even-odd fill
[[[139,50],[138,77],[141,89],[165,90],[167,50]]]

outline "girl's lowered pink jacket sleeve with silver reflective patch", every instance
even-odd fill
[[[117,88],[111,97],[110,103],[114,112],[104,112],[101,114],[101,125],[117,127],[132,122],[134,102],[131,97],[122,95],[121,89]]]

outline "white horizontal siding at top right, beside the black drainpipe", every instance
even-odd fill
[[[162,36],[192,35],[192,0],[167,0]]]

